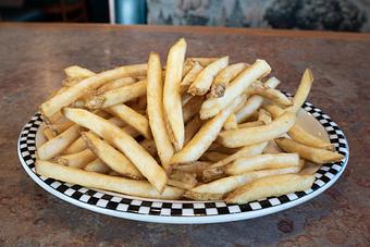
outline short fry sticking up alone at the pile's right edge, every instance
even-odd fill
[[[313,83],[313,75],[310,69],[306,69],[304,75],[301,76],[298,89],[293,98],[292,111],[298,112],[301,106],[305,103],[307,96],[311,89]]]

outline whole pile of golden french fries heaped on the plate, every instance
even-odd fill
[[[36,172],[131,196],[246,203],[306,190],[320,164],[344,158],[296,122],[310,70],[288,98],[263,60],[185,53],[182,38],[165,66],[151,52],[101,73],[66,67],[40,106]]]

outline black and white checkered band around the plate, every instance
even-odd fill
[[[18,139],[18,152],[25,169],[30,170],[37,175],[39,182],[45,183],[54,190],[78,202],[87,203],[89,207],[97,207],[104,210],[114,210],[116,212],[138,213],[144,215],[160,217],[203,217],[203,215],[222,215],[240,212],[250,212],[256,210],[268,209],[303,198],[314,190],[323,187],[334,177],[338,176],[345,166],[348,158],[348,145],[341,128],[320,109],[314,108],[311,103],[306,102],[304,109],[313,115],[328,132],[330,141],[336,150],[346,158],[341,162],[326,163],[316,173],[316,181],[312,187],[306,192],[297,192],[279,197],[252,201],[245,205],[229,205],[223,201],[153,201],[148,199],[133,199],[131,197],[112,196],[106,193],[97,192],[79,185],[72,185],[65,182],[55,181],[39,176],[35,173],[35,151],[36,151],[36,133],[42,123],[40,113],[36,113],[22,129]],[[28,171],[29,172],[29,171]]]

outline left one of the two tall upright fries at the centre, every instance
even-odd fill
[[[147,113],[156,151],[165,171],[173,156],[173,147],[165,127],[163,109],[163,78],[161,62],[158,53],[151,52],[147,74]],[[151,153],[151,152],[150,152]]]

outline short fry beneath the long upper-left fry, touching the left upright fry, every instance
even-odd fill
[[[140,81],[132,85],[104,91],[100,95],[92,95],[86,102],[89,109],[108,108],[130,100],[145,96],[147,89],[147,81]]]

